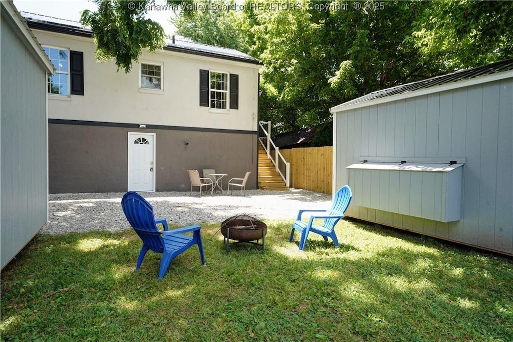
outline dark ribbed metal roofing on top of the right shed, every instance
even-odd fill
[[[459,81],[477,78],[480,76],[492,75],[509,70],[513,70],[513,59],[506,59],[506,61],[502,62],[496,62],[476,68],[460,70],[446,75],[427,78],[423,81],[407,83],[396,87],[374,91],[367,95],[352,99],[348,102],[344,102],[338,106],[335,106],[332,108],[332,112],[336,111],[341,107],[348,107],[351,105],[361,104],[383,97],[411,93],[413,91],[428,89],[436,86],[449,85]]]

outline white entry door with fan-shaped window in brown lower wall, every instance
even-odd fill
[[[155,134],[128,132],[128,191],[155,191]]]

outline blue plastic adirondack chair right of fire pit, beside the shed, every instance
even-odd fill
[[[328,240],[329,236],[333,240],[335,246],[338,247],[339,240],[337,239],[334,228],[337,222],[339,222],[339,220],[344,217],[344,213],[349,207],[349,203],[351,203],[351,198],[351,188],[349,188],[347,185],[344,185],[335,194],[335,197],[333,198],[333,205],[331,206],[330,210],[300,210],[298,213],[297,221],[292,225],[289,242],[292,242],[294,231],[298,230],[301,233],[299,240],[300,251],[305,249],[306,239],[308,238],[309,233],[320,234],[322,237],[324,237],[325,241]],[[313,214],[310,216],[310,220],[308,223],[306,223],[301,220],[301,216],[304,212],[318,212],[319,214]],[[313,225],[313,220],[315,218],[324,218],[324,223],[322,226]]]

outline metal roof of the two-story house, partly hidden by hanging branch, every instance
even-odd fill
[[[82,37],[92,37],[91,29],[89,27],[82,26],[78,22],[30,12],[22,12],[22,15],[27,20],[28,26],[33,29],[65,33]],[[194,43],[184,39],[166,39],[164,50],[261,65],[259,59],[251,57],[250,55],[247,55],[238,50]]]

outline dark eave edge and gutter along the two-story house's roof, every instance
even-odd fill
[[[76,36],[88,37],[88,38],[92,38],[92,36],[93,36],[92,32],[89,29],[68,26],[68,25],[62,25],[62,24],[44,23],[44,22],[40,22],[40,21],[34,21],[30,18],[25,18],[25,19],[27,21],[27,25],[31,29],[50,31],[50,32],[56,32],[56,33],[64,33],[64,34],[70,34],[70,35],[76,35]],[[207,52],[207,51],[197,51],[197,50],[188,49],[185,47],[177,47],[177,46],[169,46],[169,45],[164,46],[163,49],[169,50],[169,51],[189,53],[189,54],[193,54],[193,55],[212,57],[212,58],[228,59],[229,61],[237,61],[237,62],[244,62],[244,63],[255,64],[255,65],[263,65],[259,61],[259,59],[256,59],[256,58],[249,59],[249,58],[243,58],[243,57],[237,57],[237,56],[228,56],[228,55],[223,55],[223,54],[218,54],[218,53],[212,53],[212,52]]]

